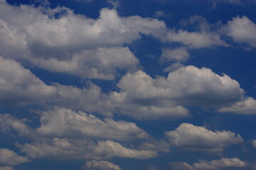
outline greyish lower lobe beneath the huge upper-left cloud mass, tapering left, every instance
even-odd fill
[[[39,58],[33,59],[33,63],[52,72],[68,72],[90,79],[114,79],[117,69],[136,69],[139,60],[128,47],[100,47],[78,52],[70,60]]]

